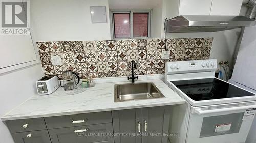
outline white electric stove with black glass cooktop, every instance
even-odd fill
[[[171,143],[245,142],[256,95],[215,78],[217,60],[166,62],[165,83],[187,103],[172,109]]]

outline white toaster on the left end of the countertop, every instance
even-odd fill
[[[59,78],[56,75],[48,75],[36,81],[36,89],[39,95],[53,93],[59,88]]]

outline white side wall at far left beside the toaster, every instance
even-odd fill
[[[35,94],[35,81],[40,79],[43,75],[44,73],[42,72],[40,63],[1,74],[0,117]],[[0,133],[1,142],[13,142],[9,130],[3,122],[0,122]]]

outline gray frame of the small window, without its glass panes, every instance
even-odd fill
[[[111,9],[110,10],[110,27],[111,27],[111,39],[148,39],[151,38],[151,16],[152,9]],[[115,13],[129,13],[130,15],[130,37],[115,38],[115,27],[114,27],[114,14]],[[133,36],[133,13],[148,13],[148,31],[147,37],[134,37]]]

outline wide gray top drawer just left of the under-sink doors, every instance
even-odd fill
[[[46,117],[47,129],[112,123],[111,111]]]

